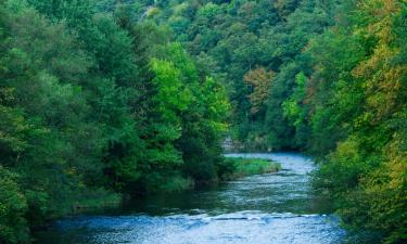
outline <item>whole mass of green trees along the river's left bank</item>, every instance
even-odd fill
[[[168,28],[131,14],[106,1],[0,2],[0,242],[118,204],[112,191],[191,188],[196,165],[216,177],[225,88]]]

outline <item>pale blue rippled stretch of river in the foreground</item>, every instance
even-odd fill
[[[239,211],[219,216],[92,217],[86,220],[75,219],[62,221],[59,223],[59,227],[65,230],[65,234],[69,233],[72,230],[81,229],[82,232],[79,234],[79,239],[75,239],[77,244],[322,244],[339,243],[341,241],[344,233],[338,228],[336,222],[338,219],[335,217],[323,215]]]

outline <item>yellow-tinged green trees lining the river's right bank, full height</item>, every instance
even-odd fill
[[[405,126],[399,123],[406,121],[407,69],[393,62],[405,55],[397,41],[405,11],[398,1],[361,1],[355,13],[342,13],[349,23],[339,22],[308,50],[317,61],[315,110],[308,115],[311,149],[328,143],[322,155],[331,152],[315,172],[315,187],[334,196],[358,243],[406,240]]]

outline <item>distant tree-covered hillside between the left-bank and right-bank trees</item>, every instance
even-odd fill
[[[281,104],[307,62],[297,56],[314,35],[332,24],[332,5],[315,0],[174,1],[150,21],[168,20],[191,54],[216,62],[213,75],[228,86],[236,140],[252,149],[295,149],[301,146],[291,143],[295,128],[282,116]],[[256,88],[249,85],[244,77],[260,72],[257,67],[272,72],[274,81],[268,77]]]

